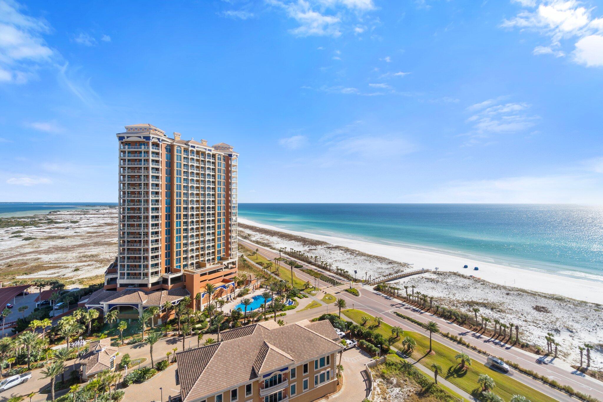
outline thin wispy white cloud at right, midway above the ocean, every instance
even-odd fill
[[[496,134],[513,134],[526,131],[535,126],[538,116],[528,113],[531,105],[525,102],[500,102],[506,97],[488,99],[467,107],[473,113],[467,118],[472,126],[463,136],[469,137],[464,145],[476,145],[481,139],[488,139]]]

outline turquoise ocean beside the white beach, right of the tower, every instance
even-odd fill
[[[603,281],[601,206],[239,204],[239,216],[286,230]]]

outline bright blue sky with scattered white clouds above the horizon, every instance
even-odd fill
[[[148,122],[240,202],[601,204],[602,105],[592,1],[0,0],[0,201],[116,201]]]

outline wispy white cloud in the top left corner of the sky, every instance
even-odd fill
[[[0,82],[22,84],[36,77],[35,70],[49,64],[54,51],[42,34],[46,21],[21,13],[21,5],[0,0]]]

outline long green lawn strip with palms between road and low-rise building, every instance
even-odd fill
[[[362,316],[366,316],[369,319],[369,324],[367,325],[374,325],[374,317],[365,312],[351,309],[343,310],[342,312],[357,323],[361,323]],[[385,322],[382,322],[380,327],[373,328],[373,330],[382,334],[386,339],[391,336],[391,325],[385,324]],[[411,355],[413,359],[428,368],[431,368],[433,363],[439,364],[446,371],[441,374],[441,377],[446,378],[446,380],[469,394],[472,394],[475,389],[481,388],[478,385],[479,374],[488,374],[492,377],[494,383],[496,383],[496,388],[493,389],[494,394],[499,395],[505,401],[511,400],[513,395],[523,395],[531,401],[555,401],[555,399],[520,383],[502,372],[494,371],[479,362],[473,361],[468,371],[459,370],[458,362],[454,358],[458,354],[458,351],[439,342],[432,342],[435,354],[430,356],[428,354],[429,335],[426,336],[414,331],[404,331],[401,339],[393,344],[398,350],[404,350],[401,341],[405,336],[410,336],[417,342],[417,347],[415,347]],[[464,348],[459,346],[459,350],[463,351]]]

